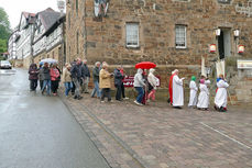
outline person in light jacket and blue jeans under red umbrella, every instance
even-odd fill
[[[134,75],[134,88],[135,90],[138,91],[138,97],[136,97],[136,100],[134,101],[135,104],[138,105],[143,105],[142,104],[142,100],[143,100],[143,96],[144,96],[144,87],[146,86],[144,83],[144,80],[143,80],[143,70],[142,69],[138,69],[138,72]]]

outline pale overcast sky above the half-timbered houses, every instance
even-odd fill
[[[57,0],[0,0],[0,7],[8,13],[12,29],[19,24],[23,11],[37,13],[48,7],[58,11]]]

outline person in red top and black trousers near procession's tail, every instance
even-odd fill
[[[50,76],[51,76],[51,81],[52,81],[53,96],[57,96],[57,89],[58,89],[58,82],[59,82],[61,74],[58,71],[56,64],[52,65],[52,68],[50,69]]]

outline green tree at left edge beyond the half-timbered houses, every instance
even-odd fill
[[[0,38],[8,40],[10,36],[10,21],[3,8],[0,8]]]

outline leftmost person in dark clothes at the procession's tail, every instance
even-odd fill
[[[36,91],[39,69],[36,64],[31,64],[29,68],[30,91]]]

